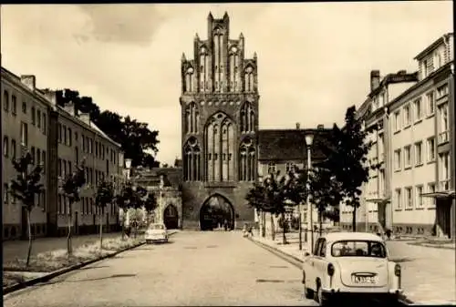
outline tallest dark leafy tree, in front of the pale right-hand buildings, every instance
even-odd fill
[[[380,164],[368,165],[368,152],[372,142],[368,135],[377,127],[364,128],[363,118],[357,118],[356,107],[348,107],[345,126],[340,129],[334,125],[334,148],[327,160],[328,169],[333,172],[341,190],[342,199],[353,208],[353,231],[357,230],[357,210],[360,206],[359,196],[363,183],[368,182],[370,169],[378,169]]]

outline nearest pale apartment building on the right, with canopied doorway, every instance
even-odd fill
[[[364,193],[377,213],[368,215],[373,225],[395,233],[455,236],[452,55],[452,34],[420,52],[418,82],[381,111],[385,175],[381,184],[370,178]]]

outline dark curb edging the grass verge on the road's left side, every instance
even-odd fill
[[[174,235],[176,233],[177,233],[177,231],[170,232],[170,233],[168,233],[168,236],[171,237],[172,235]],[[16,292],[16,291],[24,289],[26,287],[32,286],[32,285],[34,285],[36,283],[46,282],[46,281],[52,280],[53,278],[56,278],[57,276],[63,275],[65,273],[67,273],[68,271],[75,271],[75,270],[83,268],[83,267],[85,267],[85,266],[87,266],[89,264],[92,264],[92,263],[95,263],[95,262],[98,262],[98,261],[103,261],[103,260],[106,260],[108,258],[112,258],[112,257],[118,255],[121,252],[130,251],[130,250],[136,249],[137,247],[140,247],[141,245],[144,245],[144,244],[146,244],[145,241],[140,242],[139,244],[130,246],[130,247],[126,248],[126,249],[123,249],[123,250],[120,250],[120,251],[115,251],[113,253],[110,253],[108,255],[102,256],[100,258],[92,259],[92,260],[89,260],[89,261],[83,261],[81,263],[72,265],[70,267],[58,269],[57,271],[51,271],[50,273],[48,273],[48,274],[46,274],[44,276],[36,277],[36,278],[30,279],[28,281],[16,283],[14,285],[11,285],[11,286],[3,288],[3,295],[5,296],[5,294],[11,293],[11,292]]]

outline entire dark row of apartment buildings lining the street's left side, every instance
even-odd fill
[[[90,121],[88,114],[78,114],[74,106],[57,106],[55,92],[36,88],[35,76],[16,77],[2,67],[2,125],[4,136],[4,186],[16,177],[8,159],[19,158],[27,150],[34,163],[44,167],[46,192],[32,210],[32,232],[35,236],[64,235],[67,232],[69,203],[60,187],[65,176],[86,160],[88,184],[82,200],[72,206],[74,232],[97,231],[103,215],[105,230],[118,227],[119,212],[112,204],[97,210],[94,203],[96,183],[110,179],[117,187],[123,178],[123,157],[119,144]],[[7,111],[6,111],[7,110]],[[26,211],[4,189],[4,238],[26,237]],[[105,218],[106,217],[106,218]]]

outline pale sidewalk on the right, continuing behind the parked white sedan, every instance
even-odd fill
[[[301,261],[307,246],[303,241],[303,251],[299,251],[295,233],[287,234],[290,244],[286,245],[280,232],[275,234],[275,241],[270,235],[262,238],[258,233],[252,239]],[[402,267],[402,288],[407,299],[414,304],[456,304],[454,250],[409,245],[407,241],[387,241],[387,246],[391,260]]]

